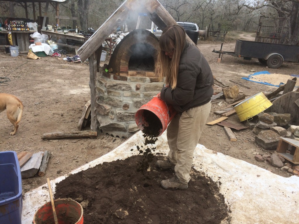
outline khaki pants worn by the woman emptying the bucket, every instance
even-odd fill
[[[170,151],[168,158],[176,164],[175,172],[182,183],[190,180],[193,153],[211,110],[211,102],[176,114],[167,127]]]

